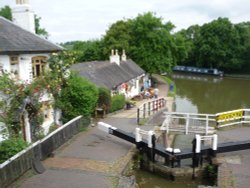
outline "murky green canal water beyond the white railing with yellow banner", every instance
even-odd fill
[[[218,113],[250,108],[250,80],[175,74],[176,111]]]

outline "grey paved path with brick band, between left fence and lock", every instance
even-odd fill
[[[167,85],[160,82],[159,97],[167,95]],[[140,101],[137,106],[141,105]],[[132,132],[137,127],[136,107],[101,119],[112,126]],[[152,129],[152,126],[143,126]],[[18,182],[22,188],[112,188],[117,187],[122,171],[131,160],[132,144],[90,127],[43,161],[46,171]],[[17,184],[13,185],[16,187]]]

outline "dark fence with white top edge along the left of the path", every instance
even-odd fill
[[[90,124],[89,118],[76,117],[62,127],[56,129],[42,140],[33,143],[9,160],[0,164],[0,187],[6,187],[32,168],[34,159],[44,160],[51,153],[67,142]]]

